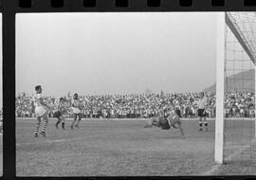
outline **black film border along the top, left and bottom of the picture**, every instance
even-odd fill
[[[58,2],[53,6],[51,1]],[[3,178],[15,179],[15,14],[26,12],[122,12],[122,11],[252,11],[255,0],[224,0],[223,6],[211,6],[212,0],[128,0],[128,6],[117,7],[121,0],[95,0],[95,6],[84,7],[83,0],[2,0],[0,11],[3,14]],[[155,3],[155,2],[156,3]],[[222,0],[214,0],[221,2]],[[24,3],[26,2],[26,3]],[[151,3],[152,4],[151,4]],[[60,3],[60,4],[59,4]],[[180,5],[182,4],[182,6]],[[30,6],[29,6],[30,5]],[[61,6],[60,6],[61,5]],[[56,7],[56,8],[54,8]],[[50,178],[50,177],[49,177]],[[93,177],[95,178],[95,177]],[[116,177],[118,178],[118,177]],[[206,177],[174,177],[174,179],[205,179]],[[210,179],[234,179],[234,177],[209,177]],[[248,179],[235,177],[235,179]],[[33,178],[32,178],[33,179]],[[38,179],[38,177],[34,177]],[[59,179],[59,178],[58,178]],[[61,177],[60,179],[64,179]],[[102,178],[105,179],[105,178]],[[119,178],[118,178],[119,179]],[[126,179],[122,177],[122,179]],[[162,179],[156,178],[156,179]]]

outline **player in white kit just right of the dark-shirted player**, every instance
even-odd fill
[[[81,121],[82,118],[82,114],[81,114],[81,107],[80,107],[80,101],[78,99],[78,94],[75,93],[73,96],[73,99],[71,101],[71,108],[73,110],[73,117],[74,120],[70,126],[71,129],[73,129],[75,122],[77,121],[75,127],[79,128],[79,123]]]

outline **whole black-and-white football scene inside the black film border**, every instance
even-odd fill
[[[18,177],[256,175],[256,12],[15,26]]]

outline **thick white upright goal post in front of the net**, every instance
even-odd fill
[[[216,119],[214,160],[224,162],[224,96],[225,96],[225,40],[226,12],[218,12],[216,44]]]

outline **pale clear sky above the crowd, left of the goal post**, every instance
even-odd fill
[[[199,92],[215,81],[214,12],[16,17],[17,94]]]

